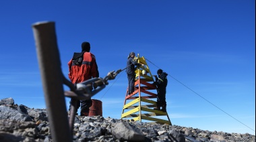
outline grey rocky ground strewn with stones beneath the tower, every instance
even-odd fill
[[[12,98],[0,100],[0,141],[53,141],[46,109],[30,109],[14,104]],[[204,131],[177,125],[152,125],[138,121],[76,116],[73,141],[251,141],[249,133]]]

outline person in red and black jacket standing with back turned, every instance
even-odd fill
[[[67,63],[69,66],[69,79],[73,84],[84,82],[91,78],[98,78],[98,66],[94,54],[90,52],[90,43],[83,42],[82,52],[75,53],[73,58]],[[78,57],[78,58],[77,58]],[[89,115],[89,108],[92,106],[92,100],[80,100],[81,102],[81,116]],[[77,109],[80,106],[80,102],[77,104]],[[70,105],[69,105],[70,111]],[[76,110],[77,111],[77,110]]]

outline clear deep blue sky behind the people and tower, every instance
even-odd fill
[[[173,125],[255,135],[254,0],[9,0],[0,1],[0,19],[1,99],[46,108],[32,24],[55,21],[66,77],[67,62],[84,41],[100,77],[125,68],[135,52],[156,65],[148,62],[152,73],[162,68],[170,75],[166,100]],[[102,101],[103,117],[121,118],[126,88],[123,72],[93,97]]]

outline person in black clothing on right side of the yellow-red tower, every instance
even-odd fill
[[[162,72],[161,69],[157,71],[158,77],[155,76],[156,81],[154,84],[157,86],[158,96],[155,110],[160,111],[160,107],[162,106],[161,111],[166,112],[166,86],[168,84],[166,72]]]

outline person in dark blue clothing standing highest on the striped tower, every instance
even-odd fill
[[[135,60],[135,53],[131,52],[128,56],[127,60],[127,68],[126,68],[126,73],[127,73],[127,78],[128,78],[128,93],[131,94],[134,92],[134,82],[135,82],[135,66],[143,66],[143,64],[137,63]]]

